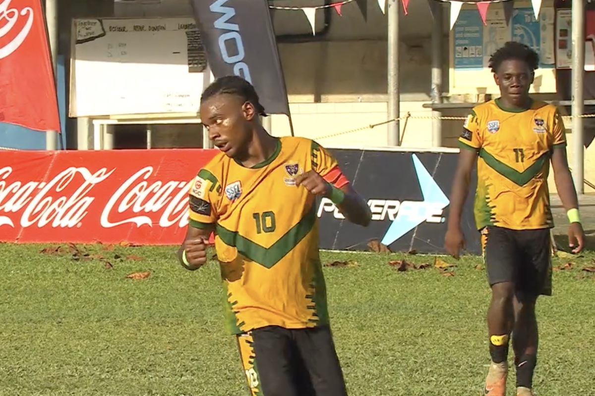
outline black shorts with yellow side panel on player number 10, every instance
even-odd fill
[[[237,336],[253,396],[347,396],[330,328],[258,328]]]

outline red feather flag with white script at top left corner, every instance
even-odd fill
[[[0,0],[0,122],[60,132],[40,0]]]

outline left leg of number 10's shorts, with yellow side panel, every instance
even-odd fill
[[[292,369],[292,340],[286,329],[265,327],[237,337],[253,396],[299,396]]]

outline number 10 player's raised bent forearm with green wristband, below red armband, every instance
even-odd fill
[[[336,188],[314,170],[298,175],[295,181],[296,186],[304,186],[312,194],[322,195],[322,197],[333,201],[348,221],[367,227],[372,220],[372,211],[366,201],[349,183],[341,188]]]

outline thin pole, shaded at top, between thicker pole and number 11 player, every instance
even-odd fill
[[[433,0],[432,0],[433,1]],[[432,103],[442,103],[442,3],[436,7],[434,25],[432,26]],[[432,145],[442,146],[442,112],[432,112]]]

